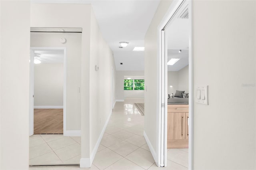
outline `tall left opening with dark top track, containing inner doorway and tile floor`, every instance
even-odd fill
[[[30,166],[80,164],[81,33],[81,28],[31,28]],[[38,99],[40,95],[47,97]],[[37,109],[44,112],[36,115]],[[47,123],[62,124],[58,129],[61,132],[52,132],[50,127],[50,132],[36,134],[33,127],[36,116],[47,117],[46,123],[40,124],[42,127],[49,128]],[[54,120],[55,116],[62,118],[63,123]]]

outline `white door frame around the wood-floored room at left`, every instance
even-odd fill
[[[66,134],[66,82],[67,63],[66,47],[30,47],[30,85],[29,85],[29,136],[34,134],[34,50],[63,49],[64,51],[64,84],[63,84],[63,135]]]

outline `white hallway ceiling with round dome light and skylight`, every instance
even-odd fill
[[[36,3],[92,4],[100,31],[114,53],[116,70],[143,71],[144,37],[160,0],[32,0]],[[119,48],[119,42],[129,42]],[[120,65],[120,62],[124,63]]]

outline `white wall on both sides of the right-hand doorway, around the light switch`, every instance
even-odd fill
[[[193,1],[194,91],[209,85],[209,105],[193,103],[195,170],[256,169],[255,3]],[[145,37],[144,128],[155,149],[156,28],[169,6],[160,2]]]

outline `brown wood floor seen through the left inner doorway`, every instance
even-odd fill
[[[34,134],[63,134],[63,109],[34,109]]]

